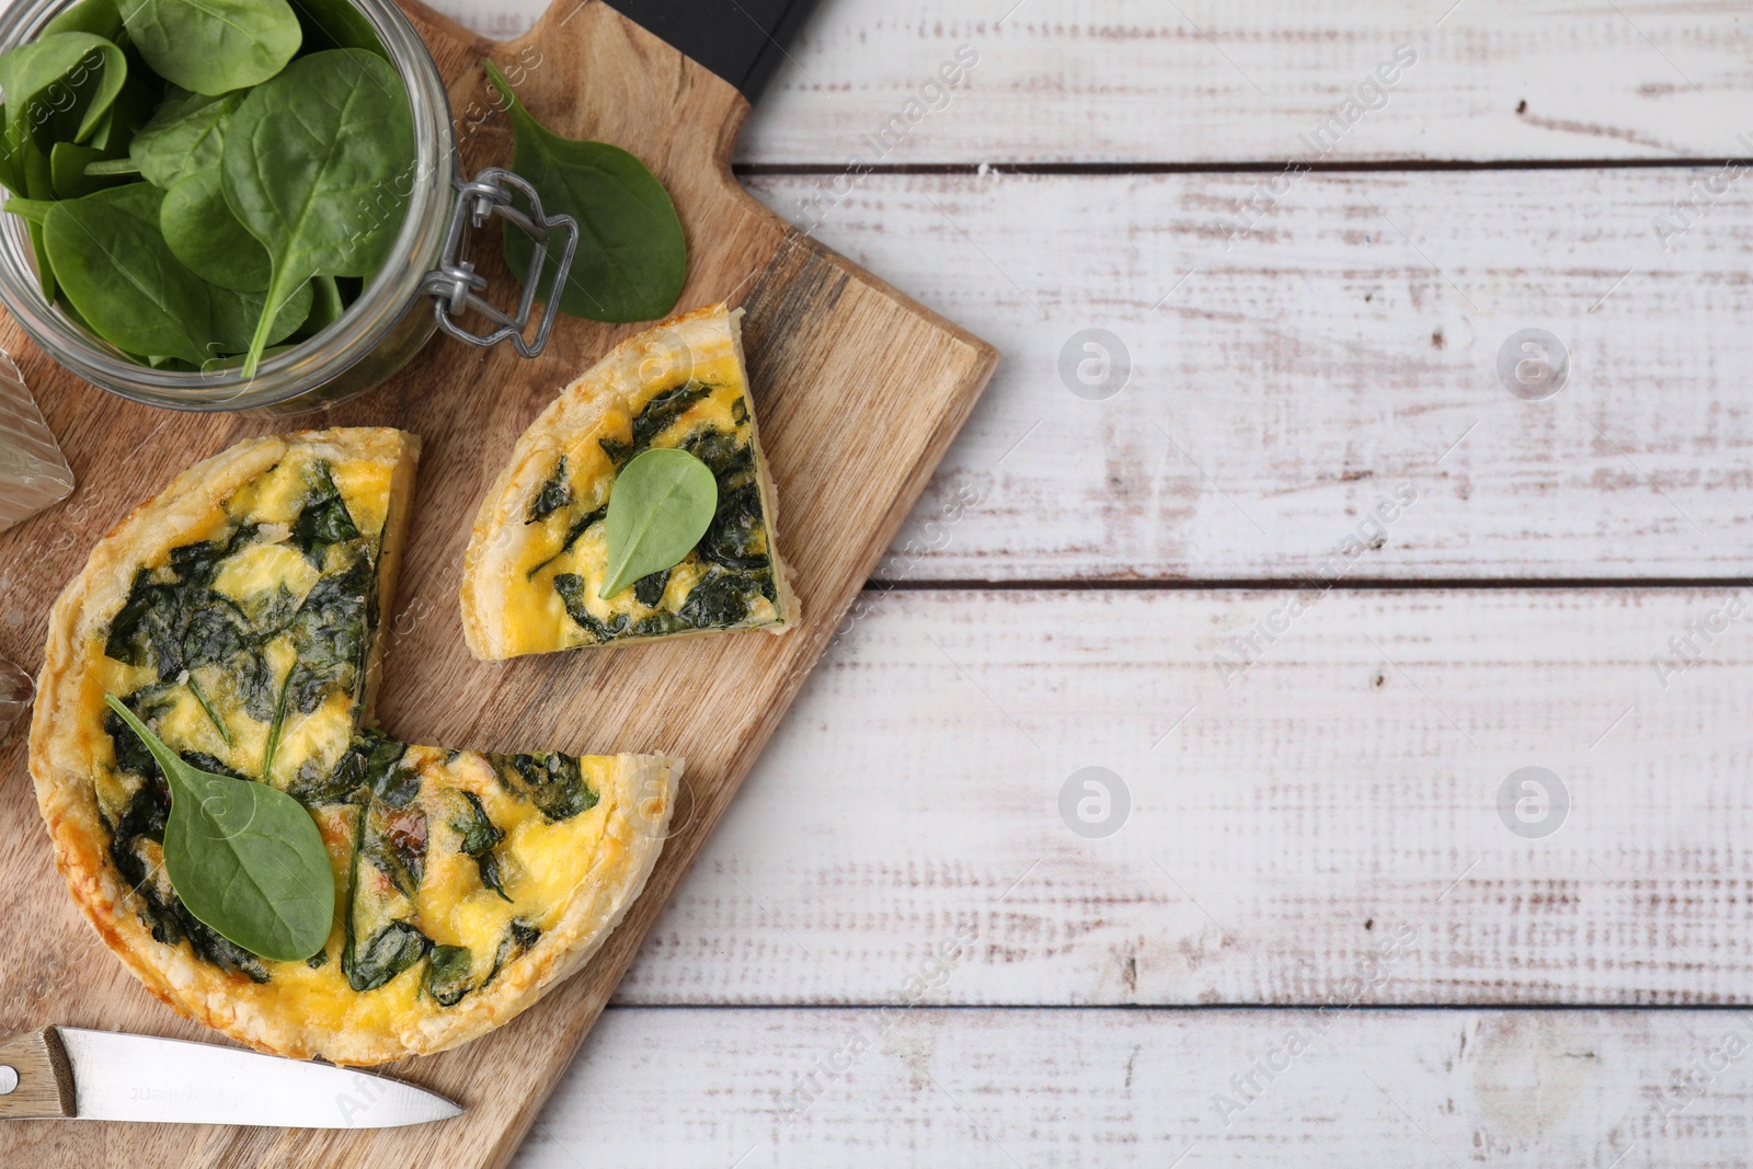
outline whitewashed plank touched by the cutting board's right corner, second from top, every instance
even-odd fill
[[[1281,580],[1411,484],[1350,575],[1737,577],[1748,191],[1651,228],[1713,174],[1309,175],[1234,245],[1253,175],[871,175],[817,235],[1006,354],[880,575]],[[1090,328],[1131,361],[1103,401]],[[1499,373],[1529,328],[1569,352],[1546,401]]]

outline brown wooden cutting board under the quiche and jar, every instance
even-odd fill
[[[424,457],[382,726],[447,747],[687,759],[678,831],[589,967],[501,1031],[387,1069],[459,1101],[465,1116],[377,1132],[9,1122],[4,1165],[505,1164],[997,363],[989,345],[745,195],[729,159],[749,103],[615,11],[561,0],[528,37],[494,44],[419,4],[405,7],[449,82],[465,174],[510,161],[510,131],[480,74],[493,56],[522,61],[519,93],[543,123],[628,147],[668,186],[691,247],[680,308],[717,300],[747,308],[749,373],[803,622],[778,638],[743,633],[508,664],[480,664],[463,647],[458,585],[477,501],[542,407],[629,328],[561,317],[536,361],[435,338],[366,398],[287,424],[124,403],[0,319],[0,345],[18,358],[81,484],[67,503],[0,535],[5,657],[35,673],[49,605],[91,545],[189,463],[300,424],[401,426],[421,435]],[[498,247],[475,254],[484,275],[508,287]],[[824,799],[836,782],[822,776]],[[37,817],[23,727],[0,741],[0,1034],[68,1024],[217,1039],[151,999],[74,908]]]

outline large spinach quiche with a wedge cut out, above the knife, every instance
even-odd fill
[[[677,761],[368,726],[417,449],[394,429],[244,442],[124,519],[49,617],[30,769],[56,866],[154,995],[265,1052],[375,1064],[507,1022],[601,945],[668,829]],[[189,764],[310,811],[335,871],[319,953],[266,960],[188,911],[165,776],[105,694]]]

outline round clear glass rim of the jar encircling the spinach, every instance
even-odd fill
[[[0,53],[14,49],[79,0],[18,0],[0,12]],[[347,310],[244,379],[237,366],[212,372],[154,370],[119,356],[42,296],[28,228],[18,216],[0,216],[0,303],[54,359],[123,398],[175,410],[256,410],[310,393],[366,358],[415,310],[426,268],[417,258],[435,254],[444,240],[456,175],[451,100],[438,65],[421,35],[393,0],[349,0],[372,25],[401,75],[414,116],[414,161],[405,184],[408,212],[394,247],[377,275]]]

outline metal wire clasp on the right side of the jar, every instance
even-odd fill
[[[524,214],[512,205],[512,189],[529,202]],[[517,315],[510,317],[479,296],[487,287],[487,277],[475,272],[470,259],[463,259],[466,228],[486,226],[487,219],[500,216],[517,224],[535,240],[535,254],[529,258],[529,279],[524,280],[524,293],[517,301]],[[536,280],[547,266],[547,256],[556,233],[564,233],[564,245],[554,263],[554,280],[543,296],[542,321],[536,324],[533,340],[524,340],[529,328],[529,314],[535,308]],[[456,182],[456,207],[451,210],[451,230],[445,235],[444,252],[438,266],[421,280],[421,291],[435,298],[433,314],[438,328],[470,345],[487,349],[500,342],[512,342],[512,349],[521,358],[535,358],[547,345],[549,333],[554,331],[554,315],[559,312],[559,291],[571,272],[571,256],[578,249],[578,221],[571,216],[547,216],[542,212],[542,196],[529,182],[503,166],[487,166],[470,182]],[[477,312],[500,328],[491,333],[472,333],[458,324],[458,317]]]

